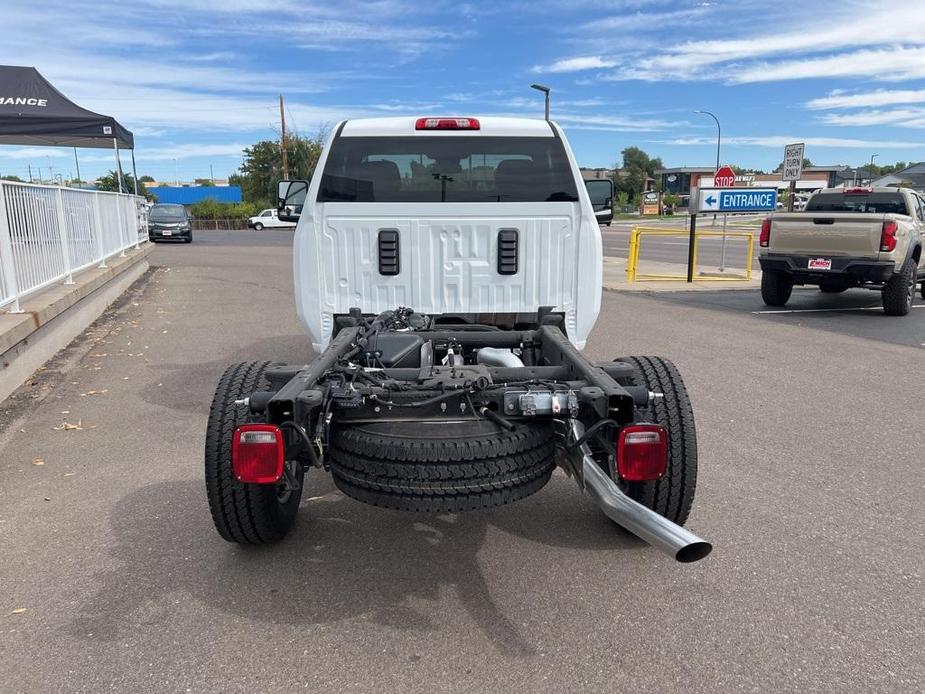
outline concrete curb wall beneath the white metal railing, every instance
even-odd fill
[[[0,314],[0,400],[22,385],[148,270],[145,243],[108,267],[84,270],[74,284],[55,284],[21,302],[23,313]]]

